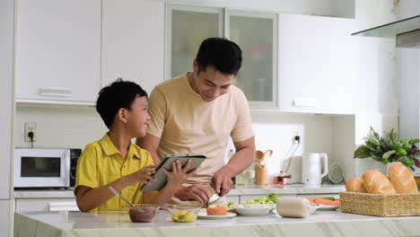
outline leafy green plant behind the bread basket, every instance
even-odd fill
[[[420,168],[420,161],[416,158],[420,156],[420,150],[416,147],[416,144],[420,142],[418,138],[400,139],[394,128],[382,137],[371,127],[369,136],[364,137],[363,140],[364,144],[354,151],[354,158],[372,157],[384,164],[401,162],[411,169],[413,165]]]

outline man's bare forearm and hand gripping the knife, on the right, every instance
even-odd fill
[[[231,160],[215,172],[210,185],[216,193],[224,196],[232,189],[232,177],[247,169],[255,159],[255,137],[252,136],[245,141],[234,142],[236,153]]]

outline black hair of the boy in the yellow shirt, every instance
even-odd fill
[[[119,109],[131,110],[131,104],[135,101],[136,96],[147,98],[147,92],[140,85],[123,81],[121,78],[101,89],[96,101],[96,110],[108,128],[114,123],[115,115]]]

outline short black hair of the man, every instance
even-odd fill
[[[242,64],[242,50],[234,42],[224,38],[204,40],[197,52],[198,72],[206,71],[207,66],[214,66],[223,74],[236,75]]]

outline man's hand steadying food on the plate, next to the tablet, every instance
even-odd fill
[[[202,184],[193,184],[189,187],[182,187],[176,193],[175,197],[181,201],[198,201],[206,205],[212,193]]]

